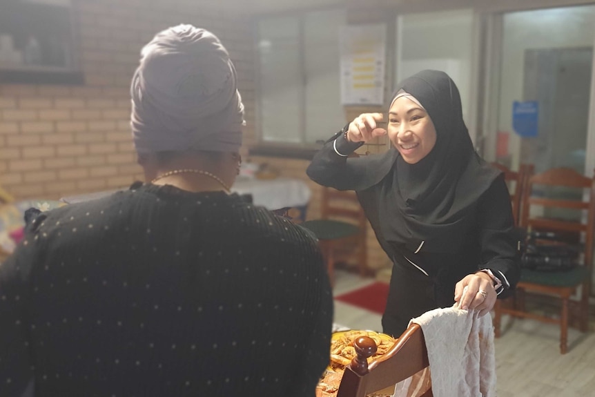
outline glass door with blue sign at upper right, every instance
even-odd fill
[[[502,15],[487,157],[513,169],[523,162],[536,172],[565,166],[593,176],[585,167],[595,156],[587,151],[594,37],[595,6]]]

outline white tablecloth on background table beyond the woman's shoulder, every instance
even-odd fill
[[[238,177],[231,191],[252,195],[255,205],[276,210],[286,207],[305,206],[310,201],[312,191],[306,182],[286,177],[274,180],[257,180]]]

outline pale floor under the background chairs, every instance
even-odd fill
[[[335,271],[335,295],[371,284],[346,271]],[[382,331],[377,313],[335,302],[335,322],[351,329]],[[595,397],[595,333],[569,329],[569,351],[560,354],[556,325],[504,318],[496,339],[496,372],[500,397]]]

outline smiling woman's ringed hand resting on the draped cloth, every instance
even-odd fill
[[[463,290],[467,287],[467,291]],[[461,309],[478,310],[479,316],[489,313],[496,303],[496,289],[494,282],[487,273],[474,273],[456,283],[454,300],[459,302]]]

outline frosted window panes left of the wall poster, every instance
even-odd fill
[[[262,142],[310,145],[345,123],[339,30],[345,12],[325,10],[258,21]]]

